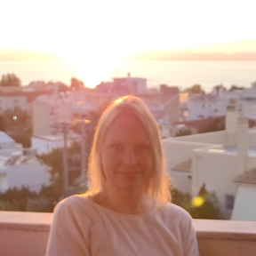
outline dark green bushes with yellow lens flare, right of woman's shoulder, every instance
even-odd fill
[[[172,203],[188,211],[192,218],[211,220],[223,219],[219,210],[219,202],[216,194],[214,192],[209,193],[205,188],[205,184],[200,188],[198,197],[201,198],[203,204],[196,206],[196,204],[193,204],[193,198],[188,193],[183,194],[177,189],[172,190]]]

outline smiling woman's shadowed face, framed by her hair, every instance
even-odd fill
[[[105,134],[100,154],[107,188],[143,189],[153,172],[151,147],[137,117],[117,117]]]

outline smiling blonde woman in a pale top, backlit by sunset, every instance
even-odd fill
[[[88,193],[55,207],[47,256],[199,255],[191,217],[168,203],[157,124],[142,100],[105,110],[88,175]]]

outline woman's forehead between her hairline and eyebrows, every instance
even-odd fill
[[[105,133],[106,140],[136,142],[148,140],[148,134],[136,116],[117,116]],[[149,140],[148,140],[149,141]]]

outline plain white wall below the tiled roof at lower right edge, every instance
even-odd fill
[[[256,185],[239,184],[231,220],[256,221]]]

